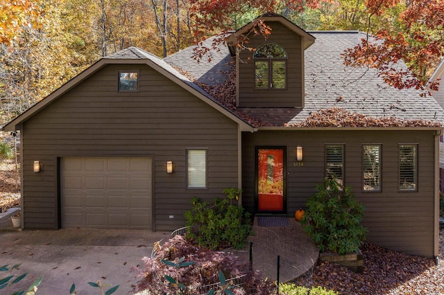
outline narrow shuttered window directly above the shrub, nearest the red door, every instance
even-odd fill
[[[325,145],[325,177],[344,184],[344,146]]]

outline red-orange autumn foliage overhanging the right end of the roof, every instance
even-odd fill
[[[395,28],[380,28],[345,54],[345,64],[368,66],[393,87],[436,90],[438,82],[427,85],[430,71],[444,55],[444,1],[442,0],[367,0],[368,21],[393,11]],[[400,71],[394,64],[404,61],[410,71]]]

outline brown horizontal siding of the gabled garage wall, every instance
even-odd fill
[[[139,92],[117,92],[118,70],[139,70]],[[58,227],[58,157],[152,157],[155,229],[185,225],[192,197],[237,187],[237,123],[145,65],[109,65],[23,126],[24,226]],[[207,189],[187,190],[186,148],[207,148]],[[33,173],[33,161],[43,171]],[[166,172],[173,161],[174,172]],[[174,215],[173,219],[169,215]]]

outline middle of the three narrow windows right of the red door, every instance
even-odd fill
[[[362,146],[362,189],[381,191],[381,145]]]

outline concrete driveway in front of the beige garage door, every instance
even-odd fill
[[[87,284],[97,280],[120,285],[114,294],[128,294],[131,285],[137,284],[131,267],[142,265],[142,258],[151,255],[153,243],[168,240],[169,234],[117,229],[0,232],[0,267],[22,263],[12,274],[28,273],[26,279],[11,289],[1,289],[0,294],[27,289],[40,276],[44,276],[37,291],[41,295],[69,294],[73,283],[79,295],[101,294],[99,288]],[[7,272],[0,272],[0,279],[6,276]]]

